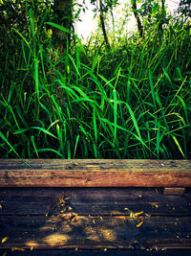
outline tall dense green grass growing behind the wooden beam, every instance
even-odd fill
[[[189,19],[162,33],[156,19],[110,50],[71,33],[60,53],[52,29],[70,32],[43,8],[25,10],[23,31],[1,27],[1,157],[190,158]]]

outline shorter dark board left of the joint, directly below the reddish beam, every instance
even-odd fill
[[[67,198],[67,202],[62,200]],[[0,215],[53,215],[71,206],[70,188],[1,188]]]

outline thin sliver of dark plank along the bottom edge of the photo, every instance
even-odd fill
[[[18,248],[19,249],[19,248]],[[6,256],[190,256],[191,250],[0,250],[0,255]]]

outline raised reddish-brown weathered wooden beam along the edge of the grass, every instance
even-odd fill
[[[0,160],[1,187],[191,187],[188,160],[25,161]]]

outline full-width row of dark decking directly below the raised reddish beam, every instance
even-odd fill
[[[164,196],[154,188],[1,188],[0,215],[56,215],[68,207],[79,215],[191,215],[191,192]],[[61,205],[59,198],[68,198]]]

